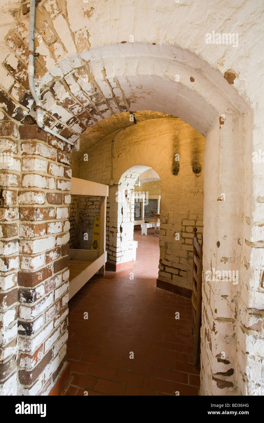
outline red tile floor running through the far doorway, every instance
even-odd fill
[[[96,275],[69,301],[71,374],[64,395],[198,395],[191,301],[156,288],[154,229],[145,236],[135,228],[134,239],[133,269]]]

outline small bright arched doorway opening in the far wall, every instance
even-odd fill
[[[159,233],[154,234],[155,219],[159,216],[160,208],[161,179],[153,168],[134,165],[123,173],[118,184],[119,254],[133,268],[136,266],[137,272],[142,271],[145,275],[149,272],[154,278],[158,277],[159,264]],[[159,224],[158,218],[156,232]],[[153,239],[155,236],[157,239]]]

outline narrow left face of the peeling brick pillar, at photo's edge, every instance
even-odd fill
[[[17,124],[0,122],[0,396],[17,395],[20,159]]]

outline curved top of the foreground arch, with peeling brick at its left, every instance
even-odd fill
[[[72,141],[81,135],[81,148],[127,126],[129,110],[138,122],[164,113],[179,116],[204,136],[218,114],[246,110],[222,75],[186,50],[127,41],[91,48],[85,30],[70,32],[65,4],[56,4],[46,1],[36,8],[36,89],[44,124]],[[28,112],[35,117],[27,77],[28,8],[17,16],[6,36],[9,53],[1,69],[9,97],[0,92],[0,105],[26,123]]]

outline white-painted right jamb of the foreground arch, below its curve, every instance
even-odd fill
[[[241,395],[236,366],[239,300],[245,284],[241,200],[244,162],[239,147],[244,123],[231,114],[225,114],[225,118],[222,128],[216,121],[206,139],[201,328],[200,394],[220,396]],[[239,177],[233,177],[234,169]],[[220,271],[220,277],[212,277],[213,269]],[[238,277],[228,280],[225,272]]]

